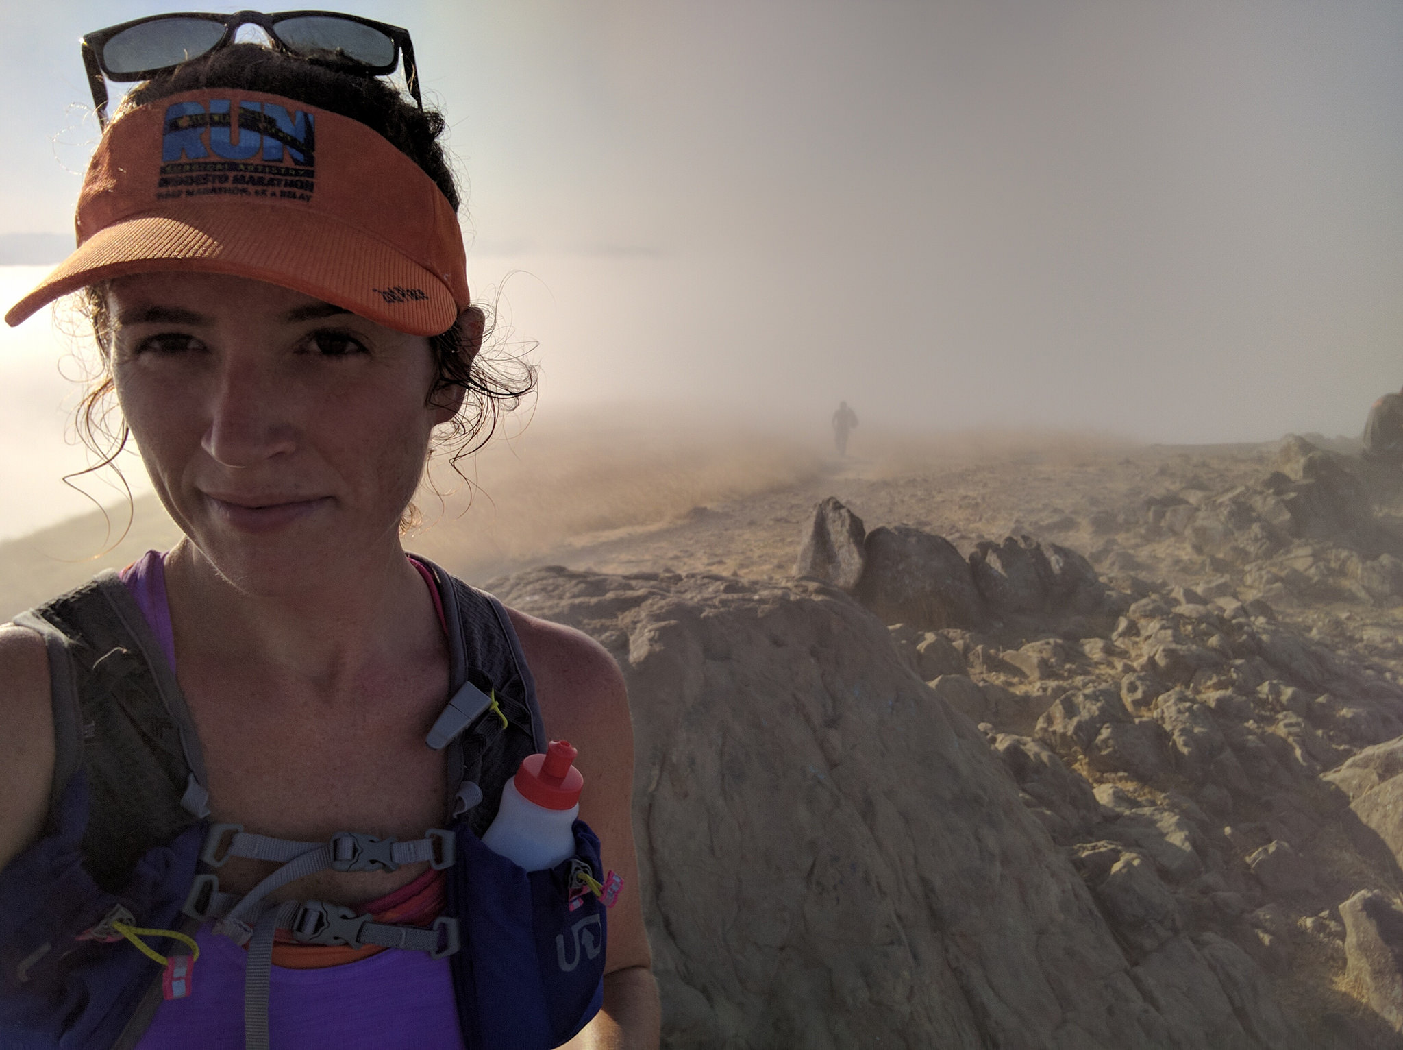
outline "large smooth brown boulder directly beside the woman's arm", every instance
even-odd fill
[[[1132,974],[1020,799],[1086,811],[1066,771],[996,757],[839,591],[558,567],[494,590],[623,667],[668,1046],[1260,1046],[1181,935]],[[1143,869],[1111,893],[1173,929]]]

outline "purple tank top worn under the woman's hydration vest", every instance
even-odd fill
[[[164,556],[146,552],[122,571],[122,583],[174,670]],[[195,943],[199,960],[191,971],[191,994],[161,1002],[136,1050],[243,1050],[247,952],[209,924],[199,928]],[[449,960],[389,950],[317,970],[274,966],[268,1036],[274,1050],[456,1050],[463,1037]]]

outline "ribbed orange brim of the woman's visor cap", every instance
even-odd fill
[[[20,324],[98,281],[156,271],[231,274],[292,288],[410,335],[453,327],[443,281],[384,241],[325,215],[275,204],[177,204],[98,230],[6,313]]]

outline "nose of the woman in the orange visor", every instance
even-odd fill
[[[296,430],[286,411],[286,390],[269,369],[227,364],[210,397],[209,423],[201,439],[223,466],[246,467],[296,448]]]

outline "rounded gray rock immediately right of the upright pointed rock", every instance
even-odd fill
[[[906,525],[867,533],[867,564],[853,595],[884,623],[923,630],[979,627],[984,602],[955,547]]]

